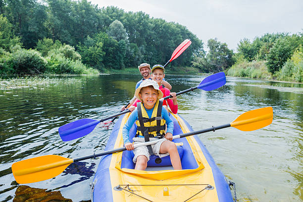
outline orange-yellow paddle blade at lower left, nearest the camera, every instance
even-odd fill
[[[72,162],[72,158],[44,155],[15,162],[11,169],[17,183],[26,184],[53,178]]]

